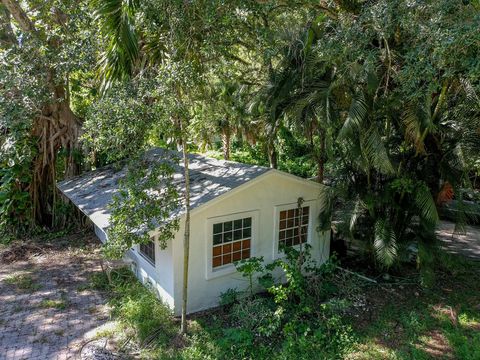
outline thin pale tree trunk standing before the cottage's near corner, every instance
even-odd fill
[[[182,153],[185,173],[185,232],[183,236],[183,288],[182,288],[182,320],[180,333],[187,332],[187,299],[188,299],[188,261],[190,257],[190,173],[188,167],[188,150],[185,129],[182,127]]]

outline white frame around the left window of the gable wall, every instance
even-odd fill
[[[259,235],[259,210],[251,210],[245,212],[239,212],[235,214],[229,214],[225,216],[216,216],[208,218],[206,221],[206,229],[205,229],[205,236],[206,236],[206,269],[205,269],[205,277],[207,280],[215,279],[220,276],[225,276],[232,274],[237,271],[235,265],[227,264],[222,265],[219,267],[214,268],[212,265],[212,258],[213,258],[213,224],[226,222],[226,221],[233,221],[238,219],[243,219],[246,217],[252,218],[252,234],[250,239],[250,258],[255,256],[256,251],[256,242]]]

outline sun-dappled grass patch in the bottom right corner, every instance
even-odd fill
[[[360,338],[349,359],[480,359],[480,267],[443,255],[437,284],[372,288],[371,319],[352,318]]]

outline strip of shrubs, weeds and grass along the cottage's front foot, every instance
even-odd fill
[[[316,267],[308,249],[299,267],[298,255],[290,251],[267,265],[261,258],[237,263],[264,291],[227,291],[221,307],[190,317],[186,337],[130,270],[114,272],[111,284],[97,274],[90,286],[110,294],[116,334],[134,339],[144,359],[430,359],[436,337],[446,356],[479,358],[478,264],[445,256],[439,286],[422,289],[365,283],[334,261]],[[288,281],[274,278],[278,268]]]

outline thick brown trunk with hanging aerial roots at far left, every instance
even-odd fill
[[[60,46],[58,43],[49,43],[45,34],[38,31],[19,1],[0,1],[23,32],[36,37],[46,46],[52,46],[54,49]],[[8,18],[9,16],[4,17],[6,20]],[[42,55],[39,54],[39,56]],[[56,71],[50,66],[48,59],[45,60],[44,69],[51,100],[43,105],[41,115],[33,121],[31,135],[37,141],[38,152],[32,161],[33,179],[29,192],[33,206],[33,220],[43,225],[53,225],[57,154],[60,149],[66,151],[67,158],[63,174],[65,177],[79,173],[80,169],[74,160],[74,152],[79,148],[81,121],[70,108],[66,90],[67,82],[57,79]]]

